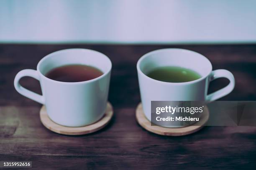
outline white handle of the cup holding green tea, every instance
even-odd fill
[[[235,87],[235,78],[234,78],[233,74],[230,71],[224,70],[224,69],[214,70],[214,71],[211,72],[210,81],[215,80],[215,79],[220,78],[220,77],[227,78],[230,81],[229,84],[226,87],[224,87],[220,90],[217,90],[216,92],[213,92],[210,95],[207,95],[206,96],[207,101],[217,100],[220,97],[228,95],[234,89],[234,87]]]

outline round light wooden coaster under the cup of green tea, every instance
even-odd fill
[[[138,124],[140,124],[144,129],[152,133],[165,135],[165,136],[183,136],[183,135],[195,133],[204,127],[203,125],[207,122],[210,115],[207,106],[204,108],[204,110],[206,111],[203,112],[204,114],[201,116],[200,122],[196,122],[191,126],[186,126],[182,128],[165,128],[161,126],[151,126],[151,122],[146,118],[143,112],[142,105],[140,103],[136,108],[136,120]]]

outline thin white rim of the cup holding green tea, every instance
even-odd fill
[[[208,72],[208,74],[200,77],[199,79],[197,80],[193,80],[193,81],[189,81],[189,82],[164,82],[164,81],[159,81],[159,80],[155,80],[151,77],[148,77],[146,74],[144,74],[142,71],[141,71],[141,68],[140,68],[140,64],[141,64],[141,61],[148,57],[149,55],[152,55],[154,53],[157,53],[157,52],[161,52],[161,51],[167,51],[167,50],[180,50],[180,51],[188,51],[188,52],[192,52],[192,53],[196,53],[197,55],[200,55],[202,57],[204,57],[206,60],[208,60],[208,62],[210,63],[210,72]],[[183,49],[183,48],[163,48],[163,49],[159,49],[159,50],[154,50],[154,51],[151,51],[151,52],[147,52],[146,54],[142,55],[142,57],[140,57],[140,59],[138,60],[137,62],[137,71],[139,74],[141,74],[142,76],[146,77],[146,78],[149,78],[150,80],[153,80],[153,81],[156,81],[156,82],[159,82],[159,83],[163,83],[163,84],[169,84],[169,85],[186,85],[186,84],[192,84],[192,83],[195,83],[195,82],[199,82],[203,79],[205,79],[207,76],[210,75],[210,73],[212,72],[212,63],[210,62],[210,60],[205,57],[204,55],[198,53],[198,52],[195,52],[195,51],[192,51],[192,50],[187,50],[187,49]]]

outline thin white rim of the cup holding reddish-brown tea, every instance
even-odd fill
[[[91,52],[95,52],[95,53],[98,53],[100,55],[103,55],[107,58],[107,60],[110,62],[110,67],[109,69],[104,72],[101,76],[97,77],[97,78],[94,78],[92,80],[87,80],[87,81],[81,81],[81,82],[62,82],[62,81],[57,81],[57,80],[52,80],[48,77],[46,77],[44,74],[41,73],[41,71],[39,70],[39,67],[41,65],[42,62],[44,62],[44,60],[48,59],[49,57],[52,57],[52,55],[55,55],[56,53],[59,53],[59,52],[63,52],[63,51],[69,51],[69,50],[80,50],[80,51],[91,51]],[[68,48],[68,49],[64,49],[64,50],[58,50],[58,51],[54,51],[54,52],[51,52],[50,54],[44,56],[37,64],[36,66],[36,70],[39,72],[39,74],[44,77],[46,80],[49,80],[49,81],[52,81],[52,82],[55,82],[55,83],[61,83],[61,84],[67,84],[67,85],[77,85],[77,84],[85,84],[85,83],[90,83],[90,82],[95,82],[99,79],[101,79],[102,77],[105,77],[105,75],[107,75],[112,69],[112,62],[111,60],[108,58],[107,55],[101,53],[101,52],[98,52],[98,51],[95,51],[95,50],[91,50],[91,49],[86,49],[86,48]]]

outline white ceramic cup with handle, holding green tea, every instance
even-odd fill
[[[201,75],[200,79],[190,82],[162,82],[148,77],[146,74],[157,67],[184,67]],[[141,92],[143,111],[151,121],[151,101],[205,101],[217,100],[230,93],[235,86],[235,79],[228,70],[212,71],[211,62],[203,55],[178,48],[168,48],[149,52],[137,62],[138,81]],[[207,95],[209,83],[220,77],[230,83]],[[177,127],[177,126],[176,126]]]

